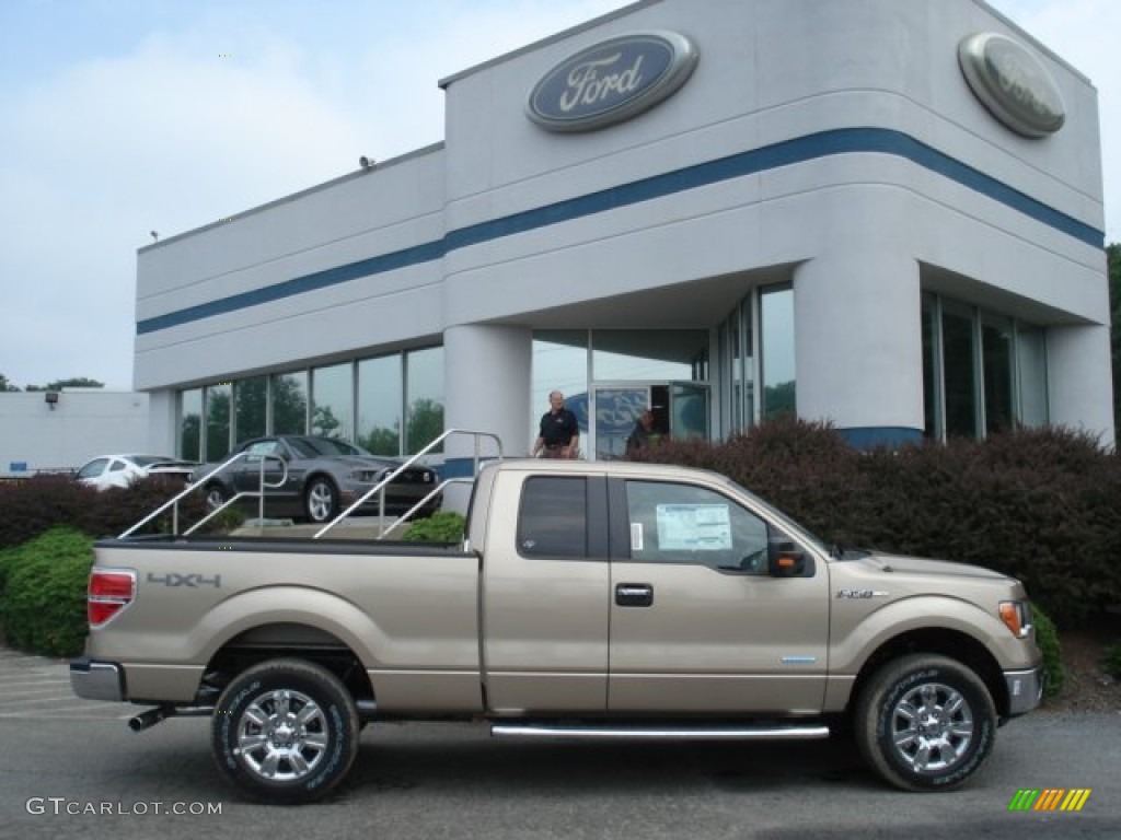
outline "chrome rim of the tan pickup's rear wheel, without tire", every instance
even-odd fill
[[[299,691],[280,689],[250,703],[238,726],[238,750],[261,778],[303,778],[323,760],[331,744],[323,709]]]

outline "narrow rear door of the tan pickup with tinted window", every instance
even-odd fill
[[[520,477],[517,473],[502,476]],[[608,697],[606,479],[495,482],[482,581],[488,707],[508,713],[602,712]]]

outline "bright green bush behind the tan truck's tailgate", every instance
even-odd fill
[[[93,539],[72,528],[0,551],[0,625],[8,643],[44,656],[82,653],[92,561]]]

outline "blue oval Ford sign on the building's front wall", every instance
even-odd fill
[[[549,131],[622,122],[675,93],[696,64],[696,48],[678,32],[612,38],[550,69],[529,94],[529,118]]]

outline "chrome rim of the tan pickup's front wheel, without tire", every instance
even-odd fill
[[[973,711],[949,685],[918,685],[892,710],[891,740],[899,758],[916,771],[944,771],[957,764],[973,743]]]

